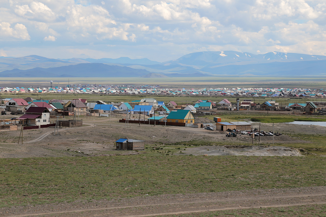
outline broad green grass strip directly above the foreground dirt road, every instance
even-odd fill
[[[322,157],[114,156],[0,159],[0,207],[245,188],[326,185]]]

